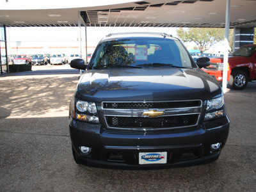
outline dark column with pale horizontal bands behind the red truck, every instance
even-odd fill
[[[253,44],[254,28],[236,28],[235,36],[235,51],[243,45]]]

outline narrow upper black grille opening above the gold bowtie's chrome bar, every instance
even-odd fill
[[[168,108],[191,108],[201,105],[200,100],[173,101],[173,102],[103,102],[104,109],[168,109]]]

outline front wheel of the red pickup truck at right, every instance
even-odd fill
[[[229,86],[235,90],[242,90],[248,84],[248,75],[243,70],[235,70],[228,81]]]

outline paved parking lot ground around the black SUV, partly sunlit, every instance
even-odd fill
[[[256,83],[225,93],[230,132],[218,161],[163,170],[77,165],[68,105],[69,65],[0,75],[0,191],[255,191]]]

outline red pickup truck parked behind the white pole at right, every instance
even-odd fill
[[[248,81],[256,81],[256,44],[244,45],[228,57],[227,81],[231,88],[241,90]],[[211,65],[202,68],[217,81],[222,81],[223,58],[211,58]]]

